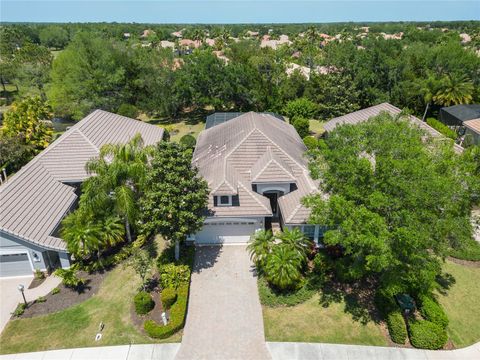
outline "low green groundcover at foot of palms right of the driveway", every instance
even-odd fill
[[[315,290],[311,289],[308,283],[305,283],[298,290],[278,291],[272,289],[264,278],[258,279],[258,293],[262,305],[276,306],[295,306],[310,299]]]

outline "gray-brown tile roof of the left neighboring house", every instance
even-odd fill
[[[72,126],[0,186],[0,231],[45,248],[65,250],[52,236],[77,199],[75,188],[88,174],[85,163],[107,143],[124,143],[140,133],[146,145],[162,139],[163,129],[96,110]]]

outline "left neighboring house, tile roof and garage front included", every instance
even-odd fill
[[[70,266],[60,223],[89,176],[86,162],[102,145],[128,142],[137,133],[146,145],[163,137],[162,128],[96,110],[0,186],[0,277]]]

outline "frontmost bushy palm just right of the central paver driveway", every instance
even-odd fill
[[[275,246],[267,257],[265,266],[268,282],[281,290],[294,288],[302,277],[302,261],[302,257],[290,246]]]

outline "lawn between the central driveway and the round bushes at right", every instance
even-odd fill
[[[323,307],[319,295],[293,307],[263,306],[267,341],[324,342],[386,346],[379,325],[363,325],[344,311],[345,303]]]

